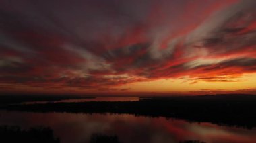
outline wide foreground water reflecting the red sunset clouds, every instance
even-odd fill
[[[117,135],[123,143],[171,143],[180,140],[204,142],[256,142],[256,130],[230,128],[210,123],[190,123],[185,120],[135,117],[114,114],[29,113],[0,111],[0,125],[18,125],[27,129],[49,126],[63,143],[86,143],[92,134]],[[0,141],[1,142],[1,141]]]

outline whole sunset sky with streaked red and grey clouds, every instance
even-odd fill
[[[256,94],[254,0],[1,0],[0,93]]]

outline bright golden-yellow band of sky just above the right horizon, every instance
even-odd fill
[[[183,92],[183,91],[200,91],[200,90],[226,90],[236,91],[241,89],[253,89],[256,85],[256,73],[245,74],[236,78],[237,81],[232,82],[207,82],[200,80],[193,80],[189,77],[185,79],[158,79],[155,81],[145,81],[138,83],[131,83],[120,86],[119,88],[131,88],[132,92]],[[197,83],[193,83],[196,81]]]

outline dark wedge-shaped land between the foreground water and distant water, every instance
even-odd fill
[[[4,105],[1,109],[32,112],[127,113],[179,118],[243,128],[256,127],[256,95],[146,97],[139,101],[88,101]]]

